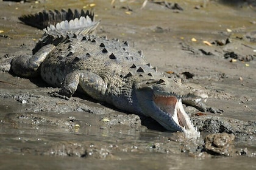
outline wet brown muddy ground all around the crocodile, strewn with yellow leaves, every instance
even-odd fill
[[[153,2],[1,1],[1,69],[9,69],[13,56],[31,53],[43,34],[19,16],[93,9],[101,19],[97,35],[129,41],[166,76],[201,86],[207,105],[223,110],[185,106],[201,137],[165,131],[151,118],[81,94],[51,97],[59,89],[40,78],[0,72],[0,169],[255,167],[255,2]]]

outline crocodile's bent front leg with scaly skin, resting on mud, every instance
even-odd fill
[[[97,100],[102,100],[107,90],[107,83],[99,75],[87,70],[76,70],[66,75],[59,94],[71,97],[78,85],[86,94]]]

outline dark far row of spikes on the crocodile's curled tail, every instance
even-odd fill
[[[19,19],[25,24],[32,27],[37,27],[38,29],[45,29],[49,25],[56,25],[59,22],[65,20],[70,21],[71,19],[80,18],[81,16],[84,16],[85,18],[88,16],[89,18],[91,18],[91,21],[94,21],[94,14],[92,12],[88,10],[86,12],[84,10],[81,10],[79,12],[78,10],[71,9],[68,9],[68,11],[66,11],[65,9],[62,9],[60,11],[43,10],[43,12],[23,15],[19,17]]]

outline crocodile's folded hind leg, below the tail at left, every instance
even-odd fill
[[[21,77],[37,77],[40,75],[40,70],[38,69],[43,63],[44,59],[52,50],[55,49],[55,46],[48,44],[47,46],[41,47],[38,52],[34,55],[20,55],[13,58],[11,62],[11,69],[15,75]]]

